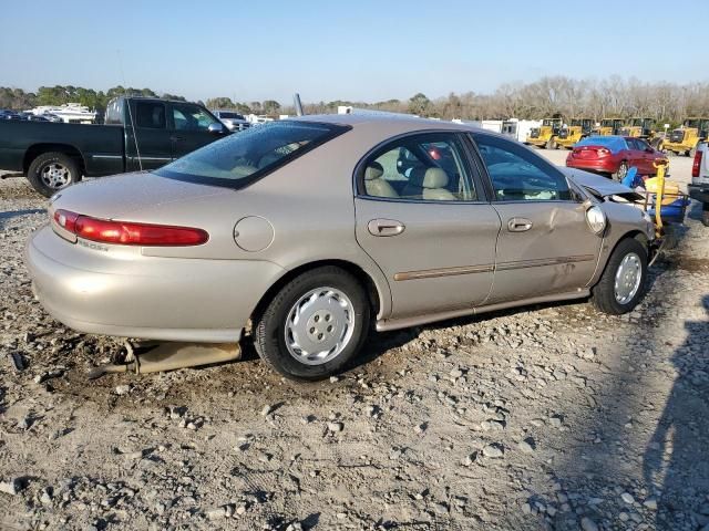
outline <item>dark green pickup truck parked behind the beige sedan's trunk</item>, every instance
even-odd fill
[[[104,122],[0,121],[0,168],[50,197],[83,176],[155,169],[229,134],[202,105],[147,97],[112,100]]]

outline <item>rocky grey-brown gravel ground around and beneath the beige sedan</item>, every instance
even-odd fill
[[[0,529],[709,530],[698,208],[629,315],[582,301],[379,334],[304,385],[248,347],[88,381],[121,340],[33,300],[44,207],[0,181]]]

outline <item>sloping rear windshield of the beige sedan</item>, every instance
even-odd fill
[[[271,122],[208,144],[154,174],[243,188],[348,129],[318,122]]]

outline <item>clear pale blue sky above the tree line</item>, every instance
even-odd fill
[[[547,74],[709,80],[709,0],[4,0],[0,20],[0,86],[25,90],[371,102]]]

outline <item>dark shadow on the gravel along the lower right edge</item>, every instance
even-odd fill
[[[702,305],[709,317],[709,295]],[[672,355],[678,376],[643,459],[645,482],[659,490],[658,529],[709,524],[709,350],[697,347],[709,325],[688,321],[685,330]]]

